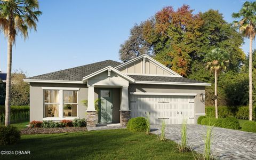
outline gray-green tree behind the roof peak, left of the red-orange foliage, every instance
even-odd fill
[[[119,58],[123,62],[127,62],[142,54],[151,54],[151,46],[142,37],[142,29],[144,23],[135,26],[130,31],[130,37],[127,41],[120,45]]]

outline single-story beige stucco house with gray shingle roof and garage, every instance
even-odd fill
[[[152,124],[196,123],[205,115],[205,86],[211,85],[182,77],[146,54],[125,63],[106,60],[24,81],[30,84],[30,121],[86,118],[87,126],[125,126],[130,118],[147,114]],[[82,100],[87,100],[87,108]]]

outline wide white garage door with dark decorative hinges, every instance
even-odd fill
[[[194,96],[184,95],[131,95],[131,117],[146,117],[151,124],[194,123]]]

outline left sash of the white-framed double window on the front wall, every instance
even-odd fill
[[[44,117],[59,117],[59,90],[44,90]]]

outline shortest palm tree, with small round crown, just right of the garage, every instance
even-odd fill
[[[204,61],[206,62],[206,69],[214,72],[214,101],[215,101],[215,117],[218,118],[218,105],[217,105],[217,78],[218,74],[226,70],[229,55],[227,52],[220,48],[213,49],[205,55]]]

